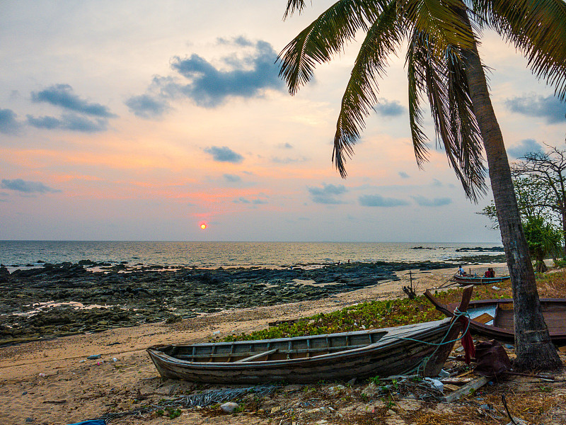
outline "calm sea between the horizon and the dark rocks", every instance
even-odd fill
[[[422,246],[423,249],[414,249]],[[495,244],[365,242],[83,242],[0,241],[0,263],[25,266],[90,259],[161,266],[291,266],[337,261],[444,261],[474,252],[456,249]],[[480,253],[491,254],[491,253]],[[502,254],[493,252],[492,254]]]

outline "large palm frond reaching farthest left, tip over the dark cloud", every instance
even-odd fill
[[[289,93],[295,94],[299,86],[306,84],[315,65],[328,62],[345,42],[354,38],[357,30],[367,30],[368,23],[379,17],[378,6],[383,3],[386,2],[337,1],[291,40],[277,57],[281,62],[279,77],[287,82]]]

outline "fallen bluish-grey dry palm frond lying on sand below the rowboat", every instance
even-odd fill
[[[127,412],[110,412],[96,419],[105,419],[106,421],[110,421],[112,419],[117,419],[124,416],[141,416],[142,414],[156,412],[158,410],[164,410],[167,408],[189,408],[195,406],[204,407],[209,406],[210,404],[238,399],[238,397],[241,397],[248,393],[257,394],[260,396],[270,395],[275,392],[276,388],[277,386],[275,385],[258,385],[255,387],[225,388],[224,390],[201,392],[200,394],[195,395],[183,395],[182,397],[177,397],[174,399],[160,400],[159,404],[150,404],[149,406],[142,406],[139,407],[139,409],[129,410]]]

